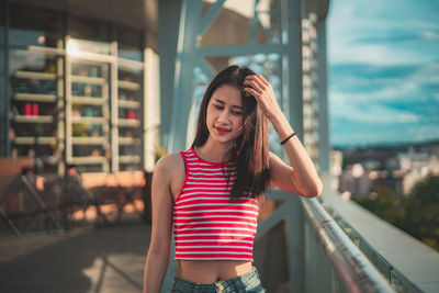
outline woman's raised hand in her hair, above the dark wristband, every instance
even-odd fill
[[[263,114],[271,121],[272,117],[282,113],[271,84],[260,75],[247,76],[243,84],[244,91],[251,94],[258,101]]]

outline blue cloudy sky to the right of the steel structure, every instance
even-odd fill
[[[439,1],[330,0],[333,146],[439,139]]]

